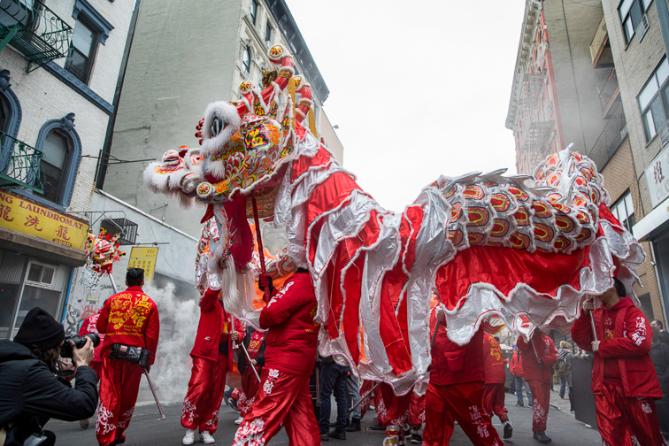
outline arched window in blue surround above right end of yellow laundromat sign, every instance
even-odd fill
[[[68,145],[65,135],[54,129],[42,146],[40,181],[44,193],[40,195],[53,203],[58,203],[63,196],[63,171],[72,154]]]

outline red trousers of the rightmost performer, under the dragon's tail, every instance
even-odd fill
[[[626,397],[619,386],[603,383],[595,395],[597,427],[604,446],[632,446],[635,437],[641,446],[666,445],[660,434],[655,400]]]

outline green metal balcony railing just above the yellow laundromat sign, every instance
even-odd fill
[[[41,162],[42,151],[0,132],[0,188],[29,188],[43,194]]]

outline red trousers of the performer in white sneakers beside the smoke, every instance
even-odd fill
[[[181,407],[181,426],[199,429],[202,433],[216,432],[219,427],[220,402],[226,390],[227,355],[216,361],[193,358],[193,369],[188,381],[188,393]]]

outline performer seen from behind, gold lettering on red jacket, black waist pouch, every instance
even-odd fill
[[[127,289],[104,302],[97,319],[97,331],[104,334],[102,349],[103,371],[100,381],[100,401],[97,404],[96,437],[100,446],[126,441],[123,433],[135,410],[142,378],[142,366],[124,359],[109,358],[115,344],[149,350],[147,370],[156,358],[160,321],[158,307],[142,292],[144,270],[130,268],[126,273]],[[113,350],[116,350],[114,348]]]

